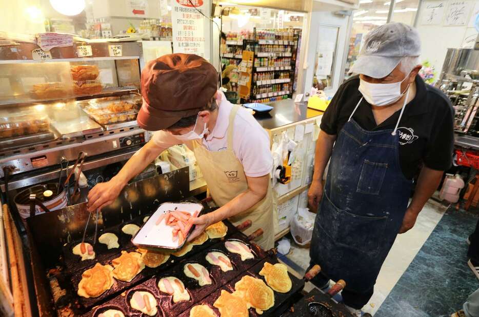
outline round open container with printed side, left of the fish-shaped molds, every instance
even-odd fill
[[[45,196],[44,193],[47,190],[51,190],[53,194],[48,197]],[[32,194],[35,195],[35,200],[42,203],[49,211],[62,209],[68,203],[66,189],[62,186],[58,188],[58,184],[49,183],[32,186],[16,194],[13,200],[22,219],[27,219],[30,216],[32,202],[30,196]],[[35,215],[44,212],[45,210],[42,207],[35,204]]]

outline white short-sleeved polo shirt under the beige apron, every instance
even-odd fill
[[[229,115],[233,105],[222,94],[218,106],[218,117],[213,131],[203,138],[203,146],[209,151],[227,149]],[[234,118],[233,151],[243,165],[246,176],[259,177],[269,174],[273,167],[273,156],[270,150],[268,133],[258,124],[255,118],[244,108],[239,108]],[[152,141],[161,148],[169,148],[182,144],[173,134],[167,131],[153,133]],[[193,150],[191,141],[185,144]]]

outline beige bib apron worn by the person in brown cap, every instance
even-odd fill
[[[209,151],[201,140],[192,142],[196,162],[205,177],[209,194],[218,206],[223,206],[231,201],[238,194],[248,189],[243,165],[238,161],[233,151],[233,121],[239,106],[231,110],[227,131],[228,147],[224,151]],[[249,235],[256,229],[262,228],[264,233],[255,240],[263,249],[268,250],[274,247],[274,212],[271,182],[268,191],[262,201],[241,214],[230,217],[229,220],[235,225],[245,220],[251,220],[252,225],[243,233]]]

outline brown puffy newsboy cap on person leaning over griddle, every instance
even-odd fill
[[[148,131],[171,127],[197,114],[214,96],[218,73],[194,54],[168,54],[148,62],[142,71],[143,105],[138,125]]]

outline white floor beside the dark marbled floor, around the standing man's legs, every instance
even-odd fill
[[[364,311],[371,314],[377,311],[446,210],[447,206],[429,200],[417,217],[415,226],[408,232],[397,236],[377,278],[374,294],[363,308]],[[292,242],[287,257],[304,270],[309,265],[309,249],[297,248],[294,246],[294,242]]]

